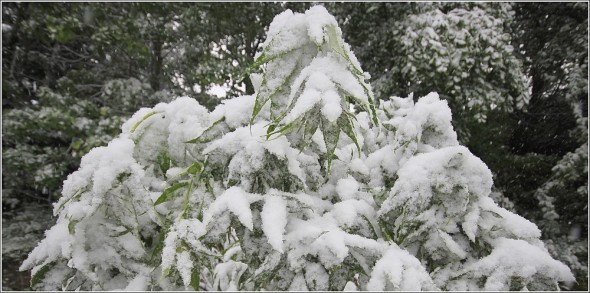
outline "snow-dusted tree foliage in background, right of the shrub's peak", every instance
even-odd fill
[[[363,8],[347,11],[351,16],[344,22],[350,32],[373,32],[368,40],[353,33],[347,37],[379,97],[436,90],[454,113],[462,113],[453,124],[464,143],[472,125],[491,111],[510,112],[527,103],[522,62],[505,32],[512,20],[508,3],[371,3]]]

